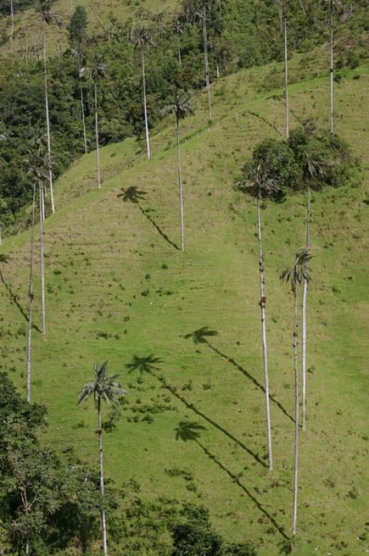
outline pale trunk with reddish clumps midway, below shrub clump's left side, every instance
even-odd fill
[[[271,435],[271,410],[269,407],[269,377],[268,377],[268,351],[266,347],[266,322],[265,322],[265,292],[264,292],[264,259],[261,240],[261,216],[260,195],[257,194],[257,236],[259,239],[259,274],[260,274],[260,308],[261,308],[261,332],[263,336],[263,359],[264,359],[264,389],[266,400],[266,431],[268,436],[268,461],[269,471],[273,471],[272,435]]]

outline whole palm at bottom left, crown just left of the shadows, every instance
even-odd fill
[[[101,427],[101,400],[104,400],[108,404],[111,402],[119,403],[121,398],[126,395],[126,391],[123,390],[120,382],[117,382],[117,375],[112,377],[108,376],[108,362],[105,361],[102,365],[94,363],[94,380],[92,382],[87,382],[83,386],[83,390],[80,392],[78,403],[85,402],[91,396],[94,398],[95,406],[97,409],[98,416],[98,443],[100,448],[100,492],[101,496],[104,497],[105,486],[104,486],[104,473],[103,473],[103,429]],[[103,549],[104,555],[108,555],[108,542],[106,535],[106,518],[105,509],[101,506],[101,528],[103,530]]]

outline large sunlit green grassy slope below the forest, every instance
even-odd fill
[[[46,443],[57,450],[73,446],[97,464],[95,411],[92,404],[79,407],[76,399],[94,361],[108,359],[129,391],[123,418],[105,436],[106,471],[116,486],[134,479],[148,500],[203,502],[225,537],[254,541],[260,556],[279,553],[291,536],[293,302],[279,275],[304,244],[305,199],[269,203],[262,213],[275,458],[269,475],[256,209],[232,185],[256,142],[282,136],[282,91],[257,92],[258,83],[273,74],[271,65],[219,80],[212,126],[206,125],[205,93],[195,100],[195,116],[183,124],[185,254],[176,248],[173,125],[163,123],[153,136],[151,161],[134,140],[102,149],[101,191],[93,189],[94,153],[56,183],[59,209],[45,223],[48,332],[45,338],[34,333],[33,350],[33,400],[49,407]],[[347,72],[336,86],[336,129],[361,158],[362,176],[354,186],[314,193],[312,199],[299,556],[357,556],[369,548],[363,540],[368,85],[365,66]],[[328,79],[295,83],[290,95],[293,124],[314,116],[328,125]],[[128,186],[145,193],[139,204],[117,197]],[[28,243],[27,232],[1,247],[10,254],[1,267],[1,366],[22,391]],[[35,295],[40,324],[38,284]],[[199,334],[191,333],[204,327],[203,341],[195,343]],[[146,363],[154,359],[153,372],[140,375],[137,358],[148,357]],[[128,363],[134,363],[131,370]],[[175,439],[180,422],[204,427],[198,442]],[[175,468],[193,473],[191,489],[171,476]]]

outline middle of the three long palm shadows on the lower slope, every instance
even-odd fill
[[[159,357],[154,357],[153,355],[147,355],[146,357],[138,357],[137,355],[134,355],[132,361],[126,364],[126,368],[128,368],[128,372],[130,373],[132,373],[135,370],[138,370],[140,375],[147,373],[155,377],[155,379],[157,379],[162,384],[163,388],[169,390],[169,392],[174,396],[174,398],[180,400],[180,402],[182,402],[182,404],[184,404],[184,406],[187,407],[187,409],[191,409],[191,411],[194,411],[196,415],[202,417],[205,421],[207,421],[209,425],[212,425],[220,432],[223,432],[223,434],[225,434],[225,436],[227,436],[228,439],[232,440],[234,443],[237,443],[237,445],[239,445],[239,447],[242,448],[242,450],[245,450],[245,452],[247,452],[248,455],[250,455],[253,459],[255,459],[255,461],[259,465],[265,468],[268,467],[257,453],[250,450],[250,448],[248,448],[243,442],[241,442],[239,439],[233,436],[233,434],[228,432],[228,430],[226,430],[224,427],[218,425],[218,423],[216,423],[216,421],[214,421],[212,418],[205,415],[203,411],[200,411],[200,409],[198,409],[194,404],[187,402],[186,398],[180,395],[180,393],[178,393],[177,389],[175,389],[174,386],[168,384],[164,377],[155,373],[155,371],[159,370],[159,367],[157,366],[159,363],[162,363],[162,360]]]

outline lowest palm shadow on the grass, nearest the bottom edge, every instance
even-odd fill
[[[227,473],[227,475],[232,479],[232,481],[235,484],[237,484],[237,486],[239,486],[239,488],[242,489],[244,493],[246,493],[248,498],[250,498],[250,500],[254,502],[257,509],[259,509],[259,511],[262,514],[264,514],[266,518],[268,518],[268,521],[270,521],[270,523],[282,535],[282,537],[285,540],[289,541],[289,537],[284,532],[284,528],[282,528],[282,525],[278,525],[277,521],[275,521],[275,518],[273,518],[273,516],[268,512],[268,510],[266,510],[261,505],[259,500],[257,500],[257,498],[255,498],[255,496],[250,492],[250,490],[241,482],[240,477],[234,475],[234,473],[232,473],[232,471],[230,471],[228,467],[226,467],[214,454],[212,454],[212,452],[210,452],[210,450],[208,450],[208,448],[206,448],[205,445],[203,445],[203,443],[200,442],[200,436],[203,430],[205,430],[205,427],[203,427],[199,423],[193,423],[190,421],[181,421],[180,423],[178,423],[178,427],[175,429],[175,439],[182,440],[184,442],[187,441],[196,442],[196,444],[201,448],[201,450],[203,450],[203,452],[207,455],[207,457],[209,457],[209,459],[214,461],[214,464],[220,467],[222,471],[225,471],[225,473]]]

